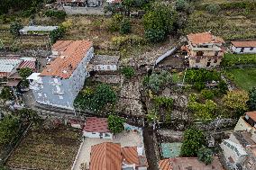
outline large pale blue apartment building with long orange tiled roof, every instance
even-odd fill
[[[31,88],[36,102],[73,110],[74,100],[89,76],[86,66],[93,57],[92,42],[72,41],[35,78]]]

